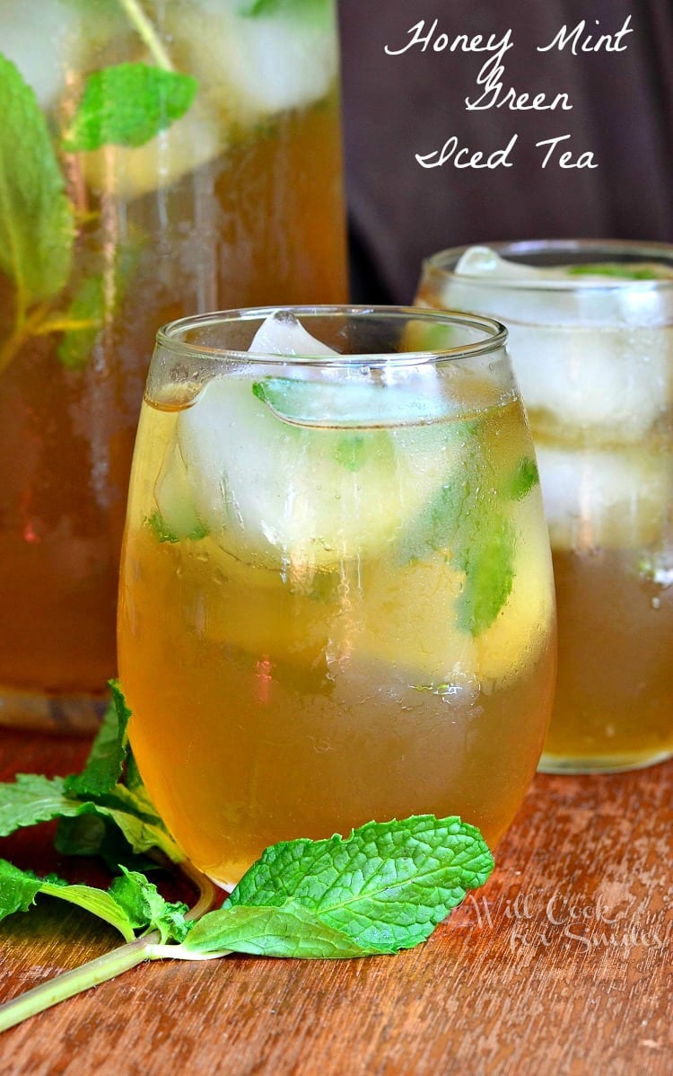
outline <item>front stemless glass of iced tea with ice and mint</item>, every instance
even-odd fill
[[[119,670],[149,794],[218,882],[370,819],[456,813],[491,846],[512,821],[555,617],[505,336],[347,307],[159,331]]]

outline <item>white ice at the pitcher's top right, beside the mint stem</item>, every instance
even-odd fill
[[[199,75],[225,115],[248,125],[325,97],[338,71],[329,5],[320,18],[302,17],[283,4],[247,16],[239,8],[201,0],[173,4],[167,12],[176,56]]]

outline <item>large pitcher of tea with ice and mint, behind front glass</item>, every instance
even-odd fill
[[[346,297],[333,0],[0,12],[0,724],[114,675],[157,325]]]

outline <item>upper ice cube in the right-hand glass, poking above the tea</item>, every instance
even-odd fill
[[[473,246],[446,281],[441,301],[505,323],[533,427],[590,429],[596,440],[635,441],[671,406],[673,330],[662,324],[655,291],[618,283],[569,278],[563,267],[516,265]],[[593,286],[576,286],[582,284]]]

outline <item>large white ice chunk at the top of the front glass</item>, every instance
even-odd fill
[[[261,339],[264,353],[273,348],[288,354],[300,342],[311,354],[319,351],[317,341],[287,321],[275,318],[260,331],[254,346]],[[361,380],[358,406],[369,394],[370,428],[330,428],[348,426],[348,415],[342,413],[343,398],[350,400],[347,380],[336,384],[314,369],[314,380],[291,382],[293,391],[283,398],[288,382],[278,372],[277,367],[250,364],[214,378],[181,413],[180,450],[197,515],[242,560],[300,574],[380,551],[395,541],[456,466],[460,436],[450,423],[427,425],[418,419],[378,428],[380,399],[398,394]],[[266,374],[271,374],[271,388]],[[274,385],[280,405],[269,395]],[[299,406],[297,385],[302,411],[315,396],[320,416],[280,412],[289,409],[288,398]],[[404,407],[409,395],[405,383],[400,396]],[[326,399],[336,419],[325,414]],[[409,419],[406,410],[404,414]]]

